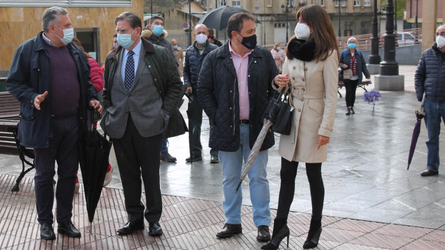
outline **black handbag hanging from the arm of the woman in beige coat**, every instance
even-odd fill
[[[276,120],[274,125],[272,125],[272,130],[274,132],[283,135],[290,135],[292,128],[292,111],[294,110],[294,107],[292,106],[292,96],[288,94],[290,89],[290,87],[286,87],[281,90],[281,93],[276,100],[278,104],[275,116]]]

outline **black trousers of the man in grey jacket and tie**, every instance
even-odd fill
[[[144,221],[141,173],[147,201],[145,218],[148,222],[157,222],[161,218],[162,198],[159,180],[161,141],[161,134],[143,137],[133,123],[131,114],[128,116],[122,138],[113,138],[128,221]]]

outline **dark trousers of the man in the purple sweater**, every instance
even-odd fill
[[[53,223],[54,175],[57,161],[59,176],[56,186],[56,219],[58,223],[71,220],[78,160],[77,116],[52,119],[53,137],[48,148],[35,148],[35,205],[40,224]]]

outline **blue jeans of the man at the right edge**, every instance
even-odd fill
[[[445,118],[445,102],[434,103],[426,99],[423,108],[426,113],[424,120],[428,130],[428,140],[426,141],[428,160],[426,168],[431,171],[439,171],[440,122],[441,119]]]

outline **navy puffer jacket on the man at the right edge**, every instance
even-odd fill
[[[437,44],[434,43],[420,57],[414,75],[419,102],[422,101],[423,92],[426,92],[426,98],[434,103],[445,102],[445,60],[442,60],[437,49]]]

